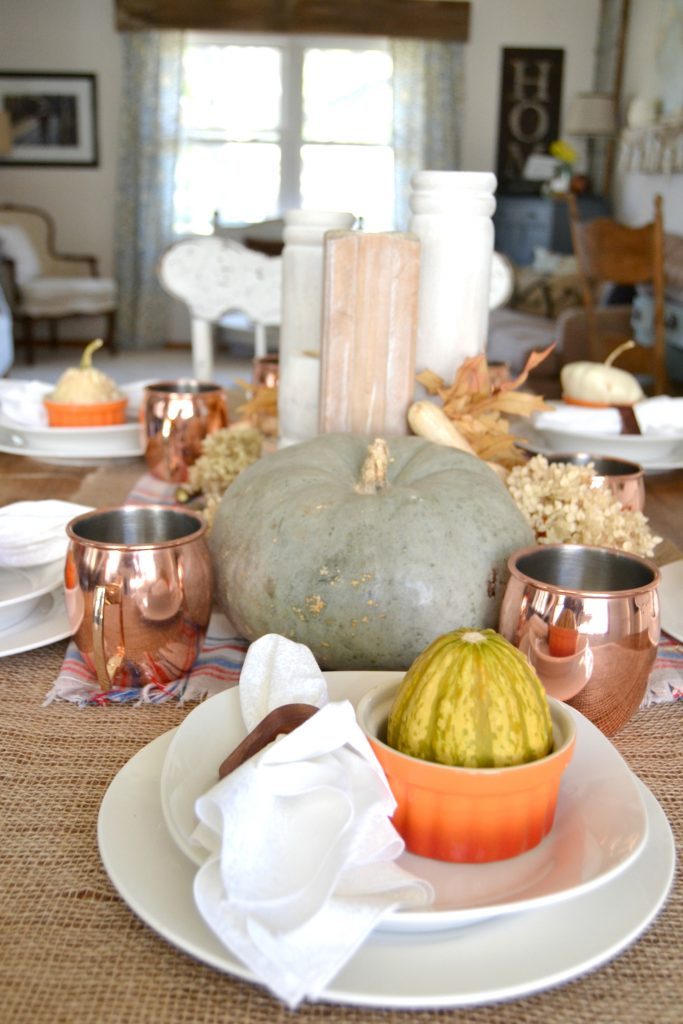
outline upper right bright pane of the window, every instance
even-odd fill
[[[304,140],[389,144],[391,74],[391,57],[382,50],[306,50]]]

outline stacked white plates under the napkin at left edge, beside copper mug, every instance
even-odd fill
[[[0,566],[0,657],[70,636],[63,558],[25,568]]]

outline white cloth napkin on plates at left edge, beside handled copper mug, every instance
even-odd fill
[[[67,554],[67,523],[88,505],[46,499],[13,502],[0,508],[0,565],[29,566],[53,562]]]

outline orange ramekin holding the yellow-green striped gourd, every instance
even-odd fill
[[[407,849],[435,860],[475,863],[505,860],[538,846],[553,825],[562,773],[573,755],[571,712],[549,698],[554,749],[548,757],[510,768],[457,768],[387,745],[398,686],[376,686],[356,714],[396,801],[392,821]]]

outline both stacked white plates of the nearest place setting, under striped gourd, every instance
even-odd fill
[[[399,676],[326,679],[331,699],[355,705]],[[328,987],[327,1001],[434,1008],[522,996],[596,968],[649,925],[673,880],[669,822],[609,740],[572,714],[577,752],[549,836],[490,864],[403,854],[400,863],[433,885],[434,904],[389,914]],[[200,705],[119,772],[101,804],[98,840],[112,882],[151,928],[198,959],[255,981],[193,900],[201,862],[191,842],[195,800],[244,735],[237,688]]]

